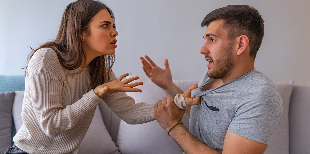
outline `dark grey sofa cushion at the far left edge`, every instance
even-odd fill
[[[4,153],[11,144],[12,105],[14,92],[0,93],[0,153]]]

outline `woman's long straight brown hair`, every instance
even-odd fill
[[[29,62],[33,54],[39,49],[52,48],[64,68],[69,70],[77,69],[82,65],[83,60],[86,60],[86,54],[83,50],[81,40],[82,31],[85,31],[89,35],[89,23],[101,9],[107,9],[115,23],[112,10],[101,2],[78,0],[70,3],[64,10],[56,39],[41,45],[37,49],[33,49],[27,58],[27,62]],[[115,55],[98,56],[91,61],[89,64],[91,75],[89,90],[95,89],[98,85],[109,81],[114,61]]]

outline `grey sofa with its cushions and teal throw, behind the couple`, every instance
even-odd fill
[[[134,76],[131,74],[131,76]],[[153,104],[166,94],[147,77],[140,77],[142,93],[127,93],[136,102]],[[199,80],[175,80],[182,90]],[[24,97],[23,76],[0,76],[0,153],[12,144],[11,138],[22,125],[21,108]],[[265,154],[309,154],[310,86],[294,85],[293,81],[275,83],[283,99],[281,123],[272,136]],[[188,119],[183,118],[188,126]],[[175,141],[157,121],[129,125],[119,119],[104,102],[96,109],[91,126],[78,153],[182,154]]]

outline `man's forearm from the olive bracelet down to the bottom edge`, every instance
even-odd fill
[[[171,129],[169,135],[179,144],[185,154],[189,153],[206,153],[219,154],[219,152],[210,148],[206,144],[196,139],[183,125],[178,124]]]

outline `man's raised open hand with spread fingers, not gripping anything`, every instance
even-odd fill
[[[148,56],[140,57],[142,69],[150,80],[162,89],[167,89],[172,83],[172,75],[168,60],[164,60],[165,69],[159,68]]]

